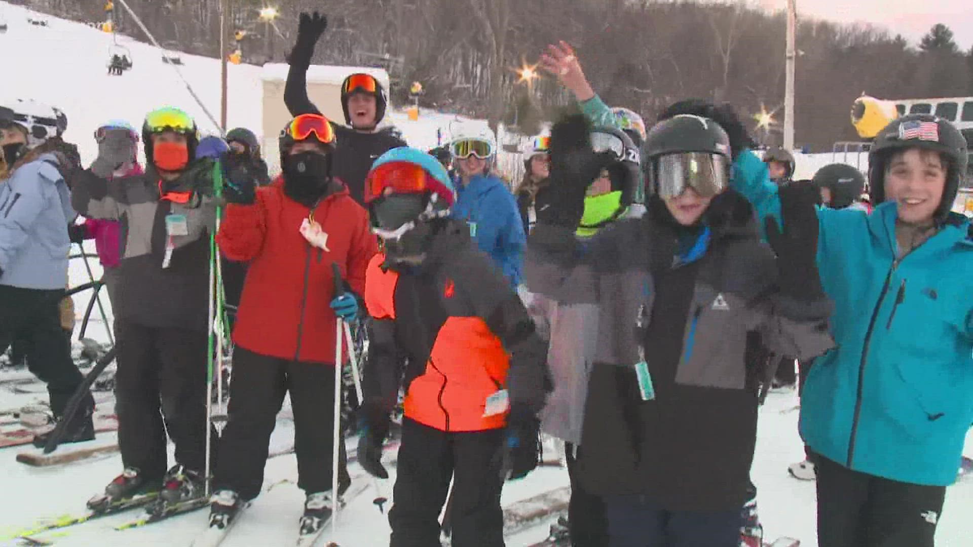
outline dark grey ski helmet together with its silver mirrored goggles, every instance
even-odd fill
[[[713,196],[729,187],[730,138],[716,122],[678,114],[649,129],[642,147],[642,173],[647,191],[661,198],[691,187]]]

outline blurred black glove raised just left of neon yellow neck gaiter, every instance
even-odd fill
[[[537,222],[575,230],[585,212],[585,192],[610,154],[592,149],[588,120],[581,114],[562,118],[551,129],[551,176],[537,191]]]

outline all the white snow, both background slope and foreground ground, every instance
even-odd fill
[[[96,154],[91,138],[94,128],[116,118],[124,118],[137,127],[147,111],[162,104],[186,109],[197,118],[203,131],[215,131],[173,69],[162,63],[162,54],[158,49],[119,37],[120,43],[131,50],[134,66],[124,76],[108,76],[106,62],[112,43],[110,35],[81,23],[58,18],[47,18],[47,27],[33,26],[26,21],[26,10],[4,2],[0,2],[0,10],[0,19],[6,19],[9,25],[8,31],[0,34],[0,45],[11,54],[6,55],[4,68],[7,74],[18,75],[17,78],[4,80],[0,100],[34,98],[61,108],[68,116],[65,136],[78,143],[86,163],[92,161]],[[324,40],[327,40],[327,35]],[[196,55],[181,56],[185,63],[181,70],[207,108],[217,115],[219,61]],[[229,68],[230,125],[260,128],[260,68],[242,64],[230,65]],[[421,148],[437,144],[439,128],[448,138],[454,120],[453,116],[423,112],[420,121],[409,122],[404,115],[393,114],[393,123],[402,129],[410,143]],[[825,155],[820,156],[820,162],[830,163],[830,154],[827,159]],[[810,170],[811,164],[807,167]],[[86,246],[93,253],[93,245],[89,242]],[[94,277],[100,277],[101,269],[96,260],[92,261],[91,268]],[[72,285],[87,281],[84,263],[72,260],[70,277]],[[79,316],[88,304],[89,294],[78,295],[75,299]],[[104,304],[110,317],[107,299],[104,299]],[[93,323],[89,336],[105,340],[103,326],[100,321]],[[27,398],[0,389],[0,409],[28,404]],[[789,463],[803,457],[797,434],[798,413],[793,411],[796,404],[793,394],[772,394],[761,410],[752,474],[759,490],[760,516],[767,536],[791,535],[801,539],[802,545],[814,547],[814,484],[791,479],[786,470]],[[278,429],[278,435],[289,435],[286,427]],[[110,435],[106,438],[110,438]],[[14,530],[27,528],[38,519],[83,511],[85,500],[91,494],[100,492],[122,470],[118,455],[35,469],[17,463],[15,456],[18,452],[18,449],[0,450],[0,477],[3,477],[0,480],[0,492],[3,492],[0,496],[0,538]],[[967,441],[966,454],[973,456],[973,435]],[[894,451],[890,451],[888,457],[895,457]],[[712,464],[721,464],[720,455],[712,455]],[[359,467],[353,466],[352,474],[361,472]],[[257,499],[225,545],[243,547],[292,542],[297,535],[297,519],[303,501],[301,492],[294,485],[296,480],[297,466],[293,456],[270,460],[265,487],[279,481],[285,482]],[[509,484],[504,489],[503,501],[506,504],[556,489],[565,485],[566,481],[563,470],[540,469],[519,483]],[[390,483],[382,484],[379,488],[391,497]],[[334,539],[345,546],[387,545],[387,519],[372,504],[375,493],[370,490],[350,504],[347,511],[342,513],[341,529]],[[968,519],[971,514],[973,478],[967,478],[947,492],[937,545],[973,546],[973,526]],[[119,516],[47,536],[56,545],[64,547],[189,545],[205,526],[205,512],[145,529],[112,529],[125,520],[126,516]],[[507,544],[509,547],[519,547],[537,541],[546,535],[545,528],[542,526],[508,538]],[[6,545],[2,540],[0,544]]]

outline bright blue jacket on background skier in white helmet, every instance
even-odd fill
[[[500,178],[477,175],[465,186],[456,181],[452,217],[465,221],[470,236],[503,271],[512,286],[521,283],[527,238],[517,200]]]

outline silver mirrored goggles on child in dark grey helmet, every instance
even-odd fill
[[[654,159],[653,179],[662,199],[675,198],[692,188],[703,198],[720,194],[730,186],[726,156],[706,152],[667,154]]]

